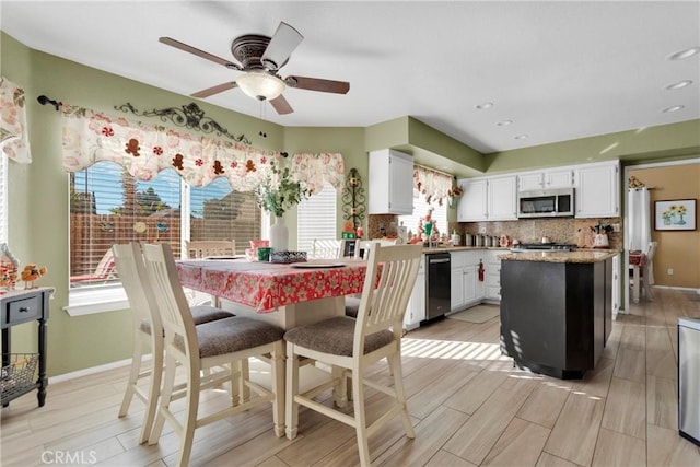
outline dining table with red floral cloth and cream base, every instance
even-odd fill
[[[345,296],[362,292],[366,272],[366,261],[351,258],[281,264],[214,257],[176,266],[183,287],[283,329],[343,316]]]

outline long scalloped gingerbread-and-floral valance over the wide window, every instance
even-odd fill
[[[81,107],[63,106],[63,167],[82,171],[100,161],[122,165],[140,180],[174,168],[191,186],[226,177],[238,191],[256,189],[281,154],[247,144],[133,122]]]

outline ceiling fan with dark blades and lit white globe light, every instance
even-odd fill
[[[290,75],[282,79],[278,71],[289,60],[290,55],[302,42],[299,31],[284,22],[280,22],[272,37],[246,34],[236,37],[231,44],[231,52],[238,61],[235,63],[207,51],[200,50],[171,37],[161,37],[159,42],[171,47],[194,54],[198,57],[223,65],[231,70],[243,71],[235,81],[230,81],[191,94],[192,97],[209,97],[234,87],[240,87],[246,95],[258,101],[269,101],[278,114],[291,114],[292,106],[282,95],[287,87],[307,91],[320,91],[347,94],[350,83],[346,81],[322,80]]]

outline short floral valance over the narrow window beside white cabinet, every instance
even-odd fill
[[[311,194],[318,192],[328,182],[336,189],[345,183],[345,163],[341,154],[294,154],[292,157],[294,177],[306,184]]]

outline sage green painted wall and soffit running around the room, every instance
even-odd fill
[[[27,94],[34,162],[9,164],[9,245],[23,264],[47,265],[49,272],[39,284],[56,287],[50,304],[48,373],[54,376],[127,359],[131,349],[127,311],[70,317],[62,310],[68,304],[69,217],[68,176],[61,166],[61,118],[50,106],[39,105],[36,97],[45,94],[110,114],[116,113],[115,105],[127,102],[145,110],[180,107],[194,100],[31,50],[4,33],[0,33],[0,52],[2,75],[22,85]],[[700,154],[698,120],[481,155],[412,117],[399,117],[368,128],[284,128],[205,102],[197,104],[207,116],[234,135],[245,135],[256,147],[289,153],[340,152],[346,168],[357,167],[365,187],[366,153],[382,148],[412,153],[423,165],[448,167],[447,172],[460,176],[603,159],[620,157],[623,163],[634,163]],[[267,138],[260,137],[260,131],[267,133]],[[339,200],[339,227],[342,226],[341,208]],[[448,215],[454,220],[454,210]],[[290,212],[287,221],[290,226],[295,225],[296,213]],[[295,229],[291,227],[290,232],[294,245]],[[31,350],[35,342],[33,335],[34,325],[13,329],[15,349]]]

